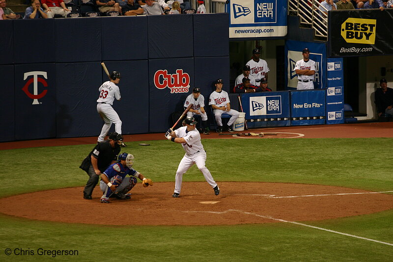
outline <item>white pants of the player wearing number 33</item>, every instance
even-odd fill
[[[114,123],[114,131],[117,134],[121,134],[121,120],[119,115],[117,115],[116,111],[112,108],[110,104],[97,104],[97,112],[102,116],[104,120],[104,125],[101,129],[101,134],[98,137],[98,142],[103,142],[105,137],[108,135],[109,129]]]

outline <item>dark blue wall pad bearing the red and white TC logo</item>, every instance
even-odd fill
[[[55,83],[54,63],[15,65],[16,140],[56,137]]]

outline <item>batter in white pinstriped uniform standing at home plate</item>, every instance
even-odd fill
[[[183,174],[186,173],[194,164],[197,164],[199,171],[202,172],[209,185],[213,187],[214,194],[217,196],[220,194],[220,188],[214,181],[210,171],[205,167],[206,151],[203,149],[202,143],[200,142],[199,131],[195,128],[197,121],[195,121],[194,117],[187,117],[183,123],[185,126],[182,126],[175,131],[169,129],[167,133],[165,133],[165,137],[168,140],[175,143],[181,143],[186,151],[186,154],[180,161],[179,167],[176,171],[175,190],[172,197],[179,197]]]

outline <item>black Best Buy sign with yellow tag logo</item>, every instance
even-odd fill
[[[329,57],[393,55],[393,9],[329,12]]]

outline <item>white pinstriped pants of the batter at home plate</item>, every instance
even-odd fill
[[[179,167],[176,171],[174,193],[180,194],[183,175],[194,164],[197,164],[199,171],[202,172],[203,176],[206,179],[206,182],[208,182],[211,187],[217,186],[217,183],[214,181],[213,176],[210,174],[210,171],[205,167],[205,161],[206,152],[204,150],[202,150],[201,152],[197,152],[193,155],[185,154],[183,156],[183,159],[180,161]]]

